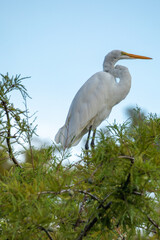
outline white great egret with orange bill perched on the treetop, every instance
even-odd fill
[[[131,87],[131,75],[128,68],[115,66],[115,64],[120,59],[137,58],[151,59],[120,50],[113,50],[106,55],[103,71],[89,78],[75,95],[65,125],[55,136],[56,143],[61,143],[64,149],[75,146],[88,132],[85,145],[88,149],[90,133],[93,130],[91,145],[94,145],[96,128],[109,116],[112,107],[127,96]],[[116,78],[120,81],[117,82]]]

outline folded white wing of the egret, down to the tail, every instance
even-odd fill
[[[91,125],[96,128],[109,115],[111,108],[107,103],[112,84],[115,84],[112,75],[105,72],[98,72],[85,82],[71,103],[56,142],[64,147],[78,144]]]

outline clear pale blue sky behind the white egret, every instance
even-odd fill
[[[103,125],[125,121],[130,106],[160,115],[159,0],[0,0],[0,9],[0,73],[31,77],[23,83],[40,138],[54,141],[74,95],[114,49],[153,60],[118,62],[132,87]]]

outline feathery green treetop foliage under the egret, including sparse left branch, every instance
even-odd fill
[[[12,85],[19,77],[2,77],[2,92],[8,93],[9,87],[15,90]],[[16,90],[27,94],[21,80]],[[13,107],[2,92],[0,159],[14,165],[1,165],[0,239],[160,238],[160,119],[156,115],[137,120],[140,110],[133,110],[134,121],[100,130],[95,148],[82,151],[73,162],[54,144],[33,147],[28,110]],[[21,166],[12,149],[13,136],[15,142],[21,136],[28,142]]]

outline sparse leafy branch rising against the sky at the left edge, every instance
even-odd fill
[[[9,75],[2,75],[0,81],[0,149],[8,153],[8,158],[20,167],[15,158],[14,145],[18,144],[25,148],[24,143],[31,145],[31,138],[35,133],[33,122],[29,123],[27,109],[27,97],[29,97],[20,75],[9,78]],[[24,101],[24,109],[16,108],[11,102],[11,93],[20,93]]]

